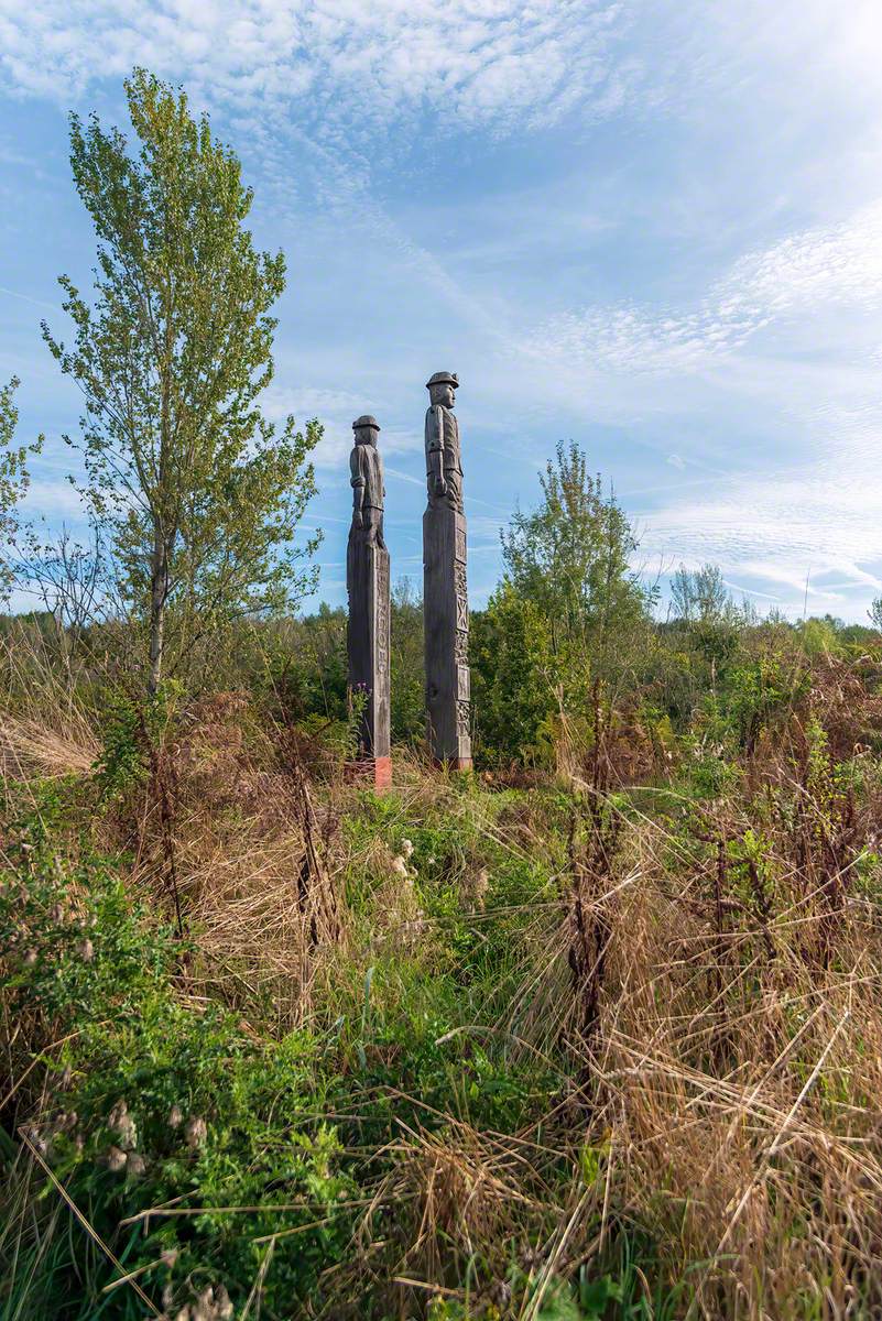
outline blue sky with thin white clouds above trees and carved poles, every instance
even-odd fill
[[[421,577],[424,383],[459,374],[470,589],[574,439],[640,564],[718,563],[791,617],[882,593],[878,0],[0,0],[0,380],[45,431],[32,509],[77,519],[79,406],[40,339],[94,239],[66,114],[181,82],[283,247],[273,416],[318,416],[320,596],[345,598],[351,421]]]

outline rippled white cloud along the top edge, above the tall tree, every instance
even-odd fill
[[[614,111],[639,77],[614,52],[613,0],[18,0],[0,3],[13,89],[70,99],[133,63],[186,75],[195,95],[242,110],[297,103],[326,141],[370,144],[378,123],[430,110],[441,122],[548,124],[580,106]],[[100,50],[100,61],[95,53]]]

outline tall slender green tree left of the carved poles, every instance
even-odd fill
[[[145,631],[147,686],[242,614],[312,585],[294,546],[321,436],[277,433],[259,396],[273,374],[269,309],[285,260],[255,250],[252,190],[182,91],[136,69],[136,135],[71,116],[74,181],[95,226],[91,305],[61,276],[67,349],[44,337],[85,398],[82,493],[108,536],[121,597]],[[65,437],[70,441],[69,437]]]

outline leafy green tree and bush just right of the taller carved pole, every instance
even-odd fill
[[[577,445],[557,446],[543,499],[503,532],[506,575],[471,641],[477,753],[490,764],[578,761],[610,694],[632,687],[654,593],[636,540]]]

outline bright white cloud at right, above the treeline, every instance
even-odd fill
[[[638,511],[644,561],[713,561],[792,616],[807,604],[860,618],[882,593],[881,336],[875,201],[743,255],[692,309],[570,312],[528,347],[561,392],[580,383],[589,415],[689,419],[667,464],[721,465],[651,491]],[[782,470],[779,457],[776,470],[775,452],[801,461]]]

